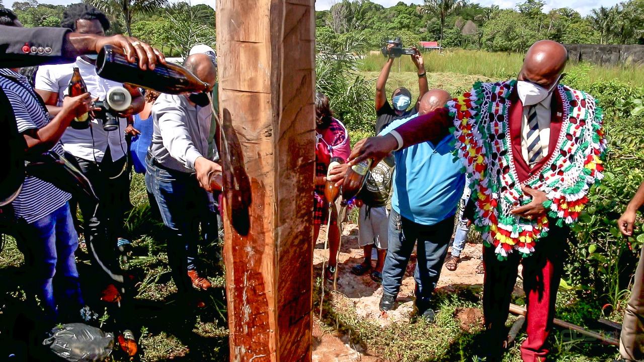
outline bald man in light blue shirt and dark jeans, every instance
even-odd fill
[[[444,107],[448,100],[450,93],[430,90],[421,99],[418,115]],[[380,135],[414,117],[393,121]],[[393,309],[413,246],[418,242],[415,305],[422,318],[435,318],[429,300],[439,280],[465,184],[460,161],[453,155],[453,141],[450,133],[437,144],[424,142],[394,153],[389,249],[384,261],[380,310]]]

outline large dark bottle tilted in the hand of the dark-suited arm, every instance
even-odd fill
[[[96,73],[110,81],[129,83],[168,94],[210,91],[210,86],[182,66],[157,63],[154,70],[138,68],[128,62],[121,48],[106,45],[96,59]]]

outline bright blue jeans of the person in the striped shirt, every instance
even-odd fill
[[[32,273],[33,281],[29,284],[40,298],[46,318],[55,321],[59,315],[78,317],[84,301],[74,259],[79,239],[71,220],[70,205],[65,203],[29,224],[19,220],[16,236],[25,264]]]

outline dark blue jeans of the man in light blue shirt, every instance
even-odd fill
[[[421,225],[392,209],[389,214],[389,248],[383,268],[383,291],[392,296],[398,295],[413,245],[418,242],[418,262],[413,273],[416,303],[429,301],[439,280],[453,229],[453,216],[438,224]]]

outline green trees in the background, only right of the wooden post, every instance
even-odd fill
[[[629,0],[582,16],[572,8],[544,11],[545,1],[526,0],[513,9],[465,0],[403,2],[384,8],[370,0],[342,0],[316,12],[317,37],[359,38],[371,50],[401,37],[403,44],[439,41],[444,48],[523,52],[539,39],[580,44],[644,44],[644,0]]]

